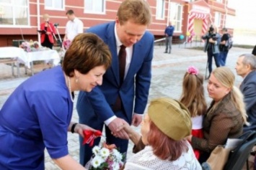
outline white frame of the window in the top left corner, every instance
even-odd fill
[[[18,6],[17,5],[17,1],[16,0],[10,0],[11,1],[11,4],[9,4],[9,3],[5,3],[5,2],[0,2],[0,6],[10,6],[10,7],[12,7],[12,22],[13,22],[13,24],[0,24],[0,27],[14,27],[14,28],[16,28],[16,27],[30,27],[30,1],[29,0],[25,0],[25,1],[27,1],[27,6],[25,6],[25,5],[21,5],[21,6]],[[15,7],[23,7],[23,8],[27,8],[27,24],[19,24],[18,22],[17,22],[17,19],[16,19],[16,12],[17,12],[17,10],[14,10],[15,9]],[[4,8],[3,8],[4,9]],[[4,14],[3,14],[3,18],[4,18]]]

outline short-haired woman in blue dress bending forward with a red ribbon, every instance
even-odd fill
[[[0,169],[45,169],[44,150],[61,169],[84,169],[69,156],[67,131],[92,130],[71,122],[74,91],[102,84],[111,54],[94,34],[79,34],[63,65],[30,77],[0,110]]]

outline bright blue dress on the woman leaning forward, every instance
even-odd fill
[[[0,110],[0,169],[44,169],[69,154],[67,131],[73,103],[60,66],[30,77]]]

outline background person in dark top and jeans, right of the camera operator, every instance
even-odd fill
[[[229,53],[229,48],[226,46],[226,42],[229,41],[229,37],[231,37],[228,33],[228,29],[223,28],[222,31],[222,37],[221,37],[221,43],[219,45],[219,65],[225,66],[226,65],[226,57]]]

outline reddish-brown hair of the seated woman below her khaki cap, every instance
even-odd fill
[[[159,159],[175,161],[180,158],[183,152],[188,151],[185,139],[175,141],[166,136],[157,128],[154,122],[150,122],[148,133],[149,146],[153,148],[153,153]]]

